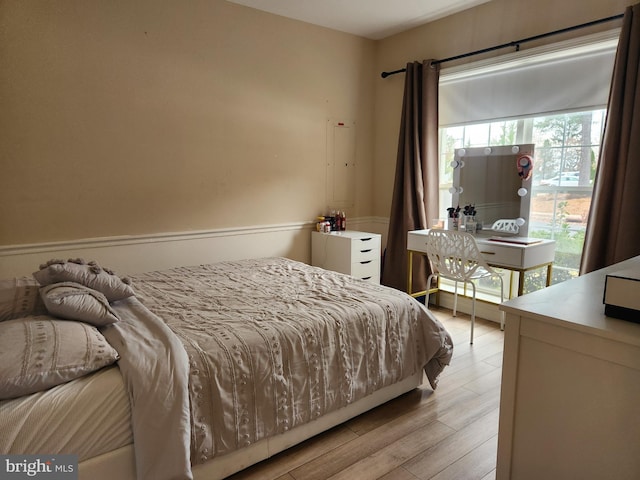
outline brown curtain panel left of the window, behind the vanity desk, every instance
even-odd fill
[[[407,232],[428,228],[438,217],[438,82],[440,66],[431,60],[407,64],[402,102],[384,285],[407,289]],[[414,255],[414,290],[424,290],[428,262]]]

